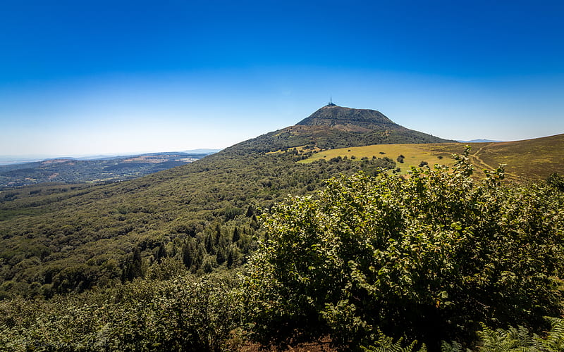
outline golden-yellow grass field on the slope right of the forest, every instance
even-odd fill
[[[494,170],[500,163],[505,166],[505,176],[509,180],[527,182],[544,180],[553,172],[564,175],[564,134],[551,137],[526,139],[515,142],[498,143],[439,143],[439,144],[374,144],[372,146],[355,146],[350,148],[329,149],[315,153],[302,163],[324,158],[329,160],[336,156],[355,156],[358,161],[367,156],[388,158],[396,161],[405,174],[411,166],[417,166],[422,161],[429,165],[453,165],[453,153],[462,153],[465,145],[472,147],[470,161],[474,165],[477,175],[483,175],[482,170]],[[399,155],[405,156],[403,163],[396,160]],[[442,157],[442,158],[441,158]]]

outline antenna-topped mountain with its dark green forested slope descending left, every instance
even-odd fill
[[[324,187],[329,177],[359,170],[374,175],[396,165],[380,155],[363,163],[297,161],[334,146],[446,141],[408,130],[370,110],[324,107],[309,120],[328,120],[329,125],[307,125],[320,122],[302,120],[135,180],[0,191],[0,260],[5,264],[0,270],[0,297],[50,296],[111,285],[138,275],[128,271],[135,249],[145,265],[158,260],[157,252],[162,251],[183,253],[195,272],[222,267],[228,256],[229,265],[239,265],[254,248],[253,215],[258,208],[268,209],[288,194],[308,194]],[[149,164],[149,156],[142,159],[140,163]],[[39,163],[37,175],[57,181],[57,173],[79,164]],[[102,168],[118,172],[130,165],[133,160]],[[240,232],[236,246],[235,228]]]

